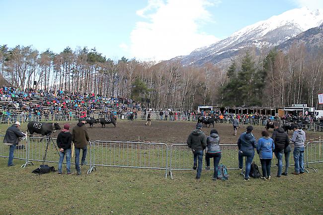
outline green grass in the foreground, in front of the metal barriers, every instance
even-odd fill
[[[101,166],[81,176],[36,175],[31,171],[39,162],[25,169],[22,161],[6,162],[0,158],[0,214],[323,213],[322,164],[318,173],[270,181],[243,181],[239,170],[229,171],[228,181],[212,181],[213,172],[203,171],[196,181],[191,170],[173,171],[174,180],[164,179],[162,170]]]

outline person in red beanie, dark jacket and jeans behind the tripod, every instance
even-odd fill
[[[72,134],[69,131],[70,125],[65,124],[64,129],[57,136],[57,146],[60,148],[60,161],[58,163],[58,174],[62,174],[62,163],[66,155],[67,174],[71,174],[71,145]]]

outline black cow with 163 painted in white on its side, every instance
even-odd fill
[[[54,124],[54,129],[53,129]],[[41,134],[42,136],[47,136],[55,132],[56,130],[61,130],[60,125],[58,122],[56,123],[49,123],[49,122],[29,122],[27,125],[27,129],[29,134],[37,133]]]

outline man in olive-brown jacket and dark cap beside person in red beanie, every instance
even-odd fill
[[[80,151],[82,150],[82,159],[81,165],[86,164],[86,151],[87,151],[87,142],[89,141],[87,128],[85,126],[85,118],[80,118],[79,123],[73,127],[72,130],[72,141],[75,146],[75,168],[78,175],[81,175],[80,168]]]

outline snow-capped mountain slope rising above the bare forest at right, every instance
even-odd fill
[[[244,27],[227,39],[174,59],[180,59],[184,65],[221,64],[238,55],[242,49],[254,47],[259,52],[265,51],[322,23],[323,11],[296,8]]]

